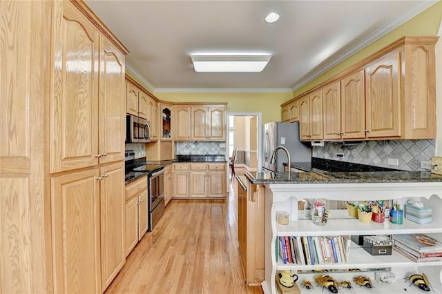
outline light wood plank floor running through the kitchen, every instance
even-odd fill
[[[246,286],[242,275],[236,186],[233,180],[227,200],[169,202],[106,294],[262,293],[260,286]]]

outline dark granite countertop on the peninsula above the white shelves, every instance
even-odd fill
[[[338,183],[388,183],[388,182],[441,182],[442,175],[429,171],[371,171],[371,172],[327,172],[314,169],[310,172],[290,173],[246,173],[252,184],[338,184]],[[442,184],[441,184],[442,189]]]

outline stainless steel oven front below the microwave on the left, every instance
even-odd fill
[[[164,166],[148,175],[148,231],[152,231],[164,214]]]

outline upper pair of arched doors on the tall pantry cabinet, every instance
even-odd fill
[[[124,55],[72,3],[63,3],[52,61],[51,173],[124,159]]]

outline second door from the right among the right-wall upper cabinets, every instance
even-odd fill
[[[341,80],[340,114],[343,139],[365,138],[364,70],[354,72]]]

